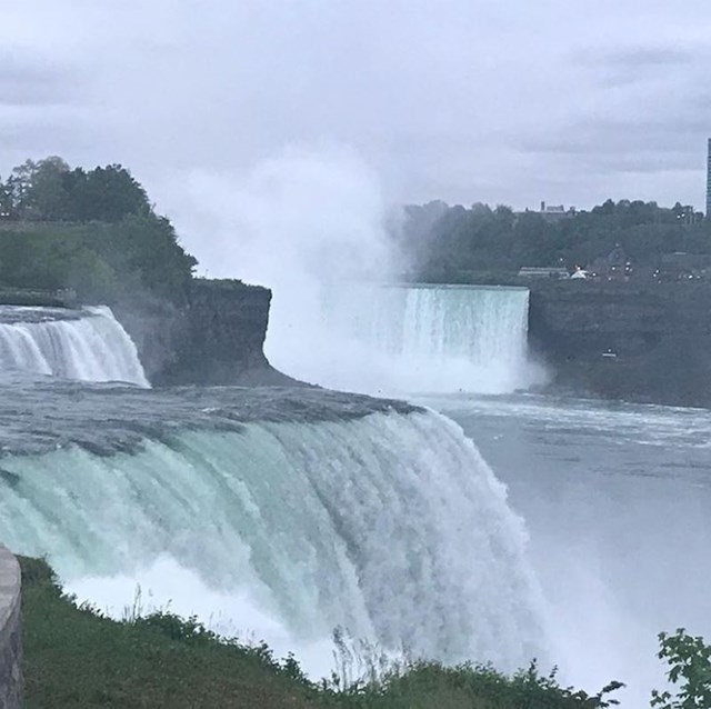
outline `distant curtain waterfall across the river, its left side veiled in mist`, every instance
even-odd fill
[[[297,377],[370,393],[502,393],[540,376],[525,288],[343,284],[319,300],[308,322],[274,302],[269,353]]]

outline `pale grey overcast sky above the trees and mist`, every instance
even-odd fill
[[[390,199],[701,208],[709,0],[23,0],[0,21],[0,174],[168,184],[352,148]]]

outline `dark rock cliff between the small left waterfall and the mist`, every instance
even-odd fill
[[[263,353],[270,301],[266,288],[199,279],[182,306],[137,299],[113,311],[153,386],[294,385]]]

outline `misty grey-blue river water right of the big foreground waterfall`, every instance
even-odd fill
[[[537,396],[425,400],[460,423],[525,519],[552,655],[587,687],[661,683],[657,635],[711,636],[711,412]]]

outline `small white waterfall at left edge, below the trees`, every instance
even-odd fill
[[[0,371],[150,386],[131,338],[104,306],[0,306]]]

